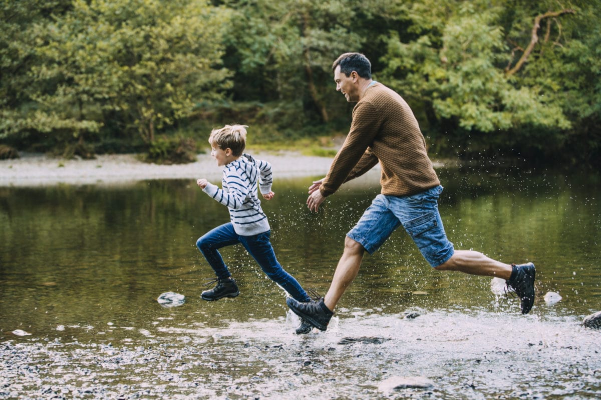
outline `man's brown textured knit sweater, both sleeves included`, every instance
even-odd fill
[[[382,194],[405,196],[440,184],[409,105],[392,89],[374,83],[353,108],[350,132],[322,182],[322,195],[334,193],[378,161]]]

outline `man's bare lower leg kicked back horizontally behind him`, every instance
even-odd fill
[[[451,258],[436,267],[438,270],[460,271],[470,275],[496,276],[506,281],[511,276],[511,265],[486,257],[481,252],[456,250]]]

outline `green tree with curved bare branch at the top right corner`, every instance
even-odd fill
[[[599,165],[601,1],[514,3],[505,10],[505,30],[516,56],[505,70],[514,84],[537,88],[570,121],[569,128],[540,133],[531,145],[549,159]]]

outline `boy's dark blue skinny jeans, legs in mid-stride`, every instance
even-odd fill
[[[257,261],[267,278],[284,288],[294,297],[294,300],[306,303],[310,299],[307,292],[301,287],[294,276],[286,272],[275,258],[275,252],[269,236],[271,231],[255,234],[253,236],[242,236],[234,231],[231,222],[213,228],[197,240],[196,246],[203,253],[209,265],[215,271],[218,278],[230,278],[231,273],[225,266],[224,259],[218,249],[242,243],[248,254]]]

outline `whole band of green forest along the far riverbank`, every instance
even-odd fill
[[[361,52],[431,157],[601,165],[601,0],[0,1],[0,158],[194,161],[233,122],[327,155]]]

